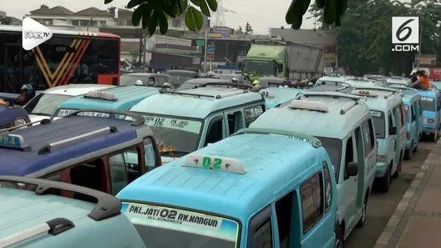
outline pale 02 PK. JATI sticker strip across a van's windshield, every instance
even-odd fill
[[[174,130],[182,130],[199,134],[201,121],[181,120],[178,118],[163,118],[161,116],[144,116],[145,124],[152,127],[166,127]]]

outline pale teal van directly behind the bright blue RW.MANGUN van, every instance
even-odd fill
[[[250,125],[314,135],[321,141],[336,173],[338,227],[345,238],[365,223],[375,177],[377,143],[364,99],[338,92],[305,92],[289,105],[268,110]],[[358,173],[353,174],[354,170]]]

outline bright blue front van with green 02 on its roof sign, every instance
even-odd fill
[[[117,197],[147,247],[329,248],[342,238],[336,191],[318,139],[245,129],[154,169]]]

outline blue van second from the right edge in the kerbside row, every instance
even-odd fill
[[[421,96],[418,90],[411,87],[389,86],[401,91],[404,112],[407,121],[406,149],[404,158],[411,159],[413,152],[418,151],[418,143],[422,132]]]

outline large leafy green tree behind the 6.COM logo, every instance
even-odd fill
[[[440,54],[441,6],[432,0],[401,3],[386,0],[351,0],[340,27],[323,23],[323,10],[312,6],[311,18],[322,23],[319,30],[328,30],[337,37],[338,65],[353,74],[409,73],[414,52],[392,52],[392,17],[420,17],[422,54]],[[439,25],[439,24],[438,24]],[[438,56],[438,60],[439,60]]]

